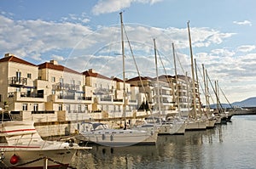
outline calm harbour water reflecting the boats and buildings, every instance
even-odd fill
[[[156,145],[93,146],[73,159],[84,168],[256,168],[256,115],[233,116],[214,129],[159,136]]]

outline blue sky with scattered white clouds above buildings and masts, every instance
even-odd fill
[[[153,39],[159,75],[175,75],[173,44],[177,74],[191,76],[189,22],[201,88],[204,65],[209,88],[218,82],[221,102],[233,103],[256,96],[255,6],[254,0],[1,0],[0,54],[35,65],[55,59],[122,79],[122,12],[126,78],[156,76]]]

